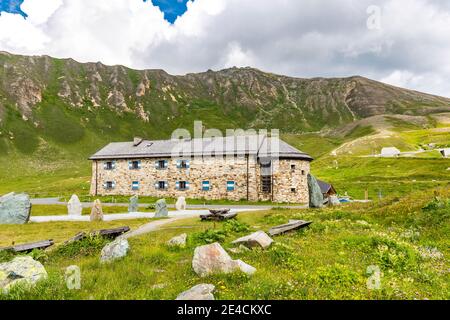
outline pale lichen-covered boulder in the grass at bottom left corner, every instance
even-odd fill
[[[29,256],[16,257],[0,264],[0,289],[3,293],[8,293],[17,284],[32,287],[46,278],[44,266]]]

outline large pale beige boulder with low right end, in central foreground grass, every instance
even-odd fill
[[[242,271],[248,275],[256,269],[241,260],[233,260],[219,243],[195,248],[192,267],[200,277],[215,273]]]

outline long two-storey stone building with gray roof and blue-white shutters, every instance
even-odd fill
[[[312,158],[278,138],[110,143],[90,157],[92,195],[308,202]]]

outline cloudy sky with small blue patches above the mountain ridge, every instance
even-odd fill
[[[26,18],[0,16],[12,53],[172,74],[362,75],[450,97],[447,0],[0,0],[15,2]]]

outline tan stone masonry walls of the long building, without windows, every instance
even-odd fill
[[[155,161],[167,160],[167,169],[157,169]],[[196,199],[229,199],[249,201],[271,200],[274,202],[307,203],[306,177],[309,162],[302,160],[280,160],[280,170],[274,166],[273,193],[264,194],[261,189],[261,168],[255,157],[190,159],[190,168],[177,168],[177,160],[170,158],[141,159],[140,169],[129,169],[128,159],[115,160],[113,170],[104,169],[104,161],[93,161],[92,195],[139,195],[159,198],[186,197]],[[291,164],[296,169],[291,170]],[[302,174],[302,170],[304,175]],[[96,178],[98,179],[96,181]],[[115,188],[104,188],[106,181],[114,181]],[[132,182],[139,182],[139,190],[132,190]],[[167,190],[158,190],[155,183],[167,181]],[[177,181],[188,181],[188,190],[177,190]],[[210,182],[210,190],[203,191],[202,182]],[[235,190],[227,191],[227,181],[235,182]],[[291,190],[295,188],[295,192]]]

